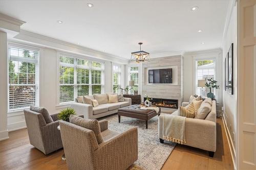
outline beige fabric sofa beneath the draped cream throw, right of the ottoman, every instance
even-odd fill
[[[188,102],[183,102],[185,107]],[[178,110],[172,114],[178,115]],[[214,157],[216,151],[216,101],[212,101],[211,111],[205,119],[187,118],[185,120],[186,143],[190,147],[200,148],[209,151],[209,156]],[[163,120],[158,119],[158,135],[160,142],[163,142]]]

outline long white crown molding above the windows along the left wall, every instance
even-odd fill
[[[37,45],[42,45],[45,47],[53,48],[55,50],[67,51],[70,53],[77,53],[81,55],[86,55],[93,58],[99,58],[103,60],[109,60],[121,64],[128,64],[129,60],[115,56],[112,54],[100,52],[93,50],[92,48],[84,47],[81,45],[76,45],[70,42],[58,40],[48,36],[40,35],[26,30],[20,30],[20,33],[14,37],[16,40],[23,40],[30,43],[35,43]]]

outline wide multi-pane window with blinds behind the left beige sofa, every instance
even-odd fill
[[[80,95],[102,93],[102,63],[65,55],[60,55],[59,61],[59,103],[73,102]]]

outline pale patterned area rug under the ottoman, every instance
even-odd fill
[[[115,114],[101,119],[107,119],[109,129],[118,132],[132,127],[138,128],[138,160],[129,169],[160,170],[176,145],[176,143],[168,141],[160,143],[158,116],[148,120],[148,129],[146,129],[145,120],[136,118],[121,116],[121,123],[118,123],[118,116]]]

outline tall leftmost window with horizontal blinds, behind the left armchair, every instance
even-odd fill
[[[39,50],[9,45],[9,111],[38,106],[38,57]]]

